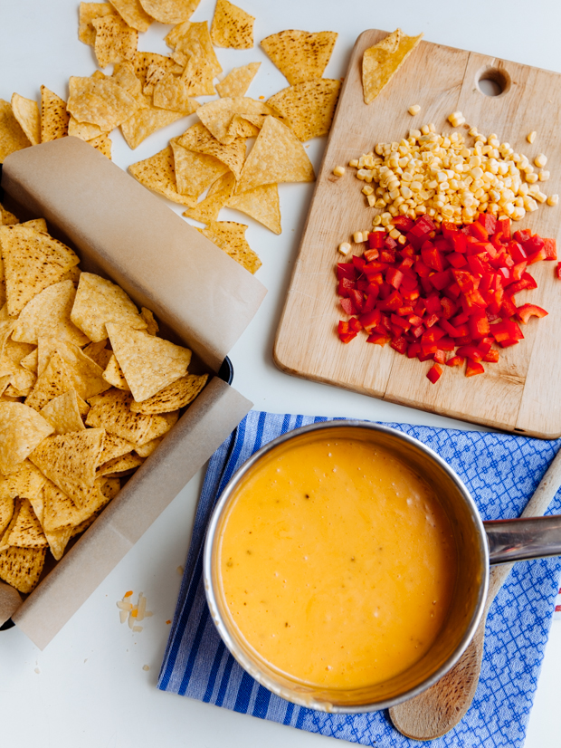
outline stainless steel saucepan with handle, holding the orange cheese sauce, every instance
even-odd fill
[[[312,687],[276,669],[248,645],[233,624],[223,598],[219,544],[236,488],[271,452],[289,449],[299,439],[352,438],[382,446],[433,487],[452,524],[458,553],[458,578],[450,613],[433,647],[414,666],[383,683],[342,690]],[[274,694],[295,704],[327,712],[357,713],[386,709],[433,686],[461,657],[478,626],[489,585],[490,564],[561,555],[561,516],[482,522],[470,492],[458,475],[428,446],[393,428],[367,421],[328,421],[301,427],[273,439],[233,475],[217,503],[204,547],[204,588],[214,624],[240,665]]]

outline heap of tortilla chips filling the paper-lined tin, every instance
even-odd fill
[[[207,375],[43,219],[0,206],[0,579],[28,593]]]

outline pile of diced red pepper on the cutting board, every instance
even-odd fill
[[[369,343],[433,360],[427,377],[434,383],[442,364],[466,361],[466,377],[482,374],[482,361],[497,362],[500,348],[524,338],[518,322],[547,315],[536,304],[518,307],[515,296],[537,287],[529,265],[557,259],[555,239],[528,229],[511,236],[509,218],[485,213],[464,226],[437,228],[428,216],[398,216],[393,224],[404,245],[375,231],[364,254],[338,264],[340,303],[350,316],[338,324],[344,343],[364,330]]]

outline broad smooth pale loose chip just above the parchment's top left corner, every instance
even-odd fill
[[[80,122],[102,130],[118,127],[138,110],[138,101],[111,78],[79,78],[71,75],[68,110]]]

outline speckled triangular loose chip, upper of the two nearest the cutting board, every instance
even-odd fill
[[[309,34],[293,29],[271,34],[261,47],[279,68],[290,85],[321,78],[329,62],[338,34],[320,31]]]

